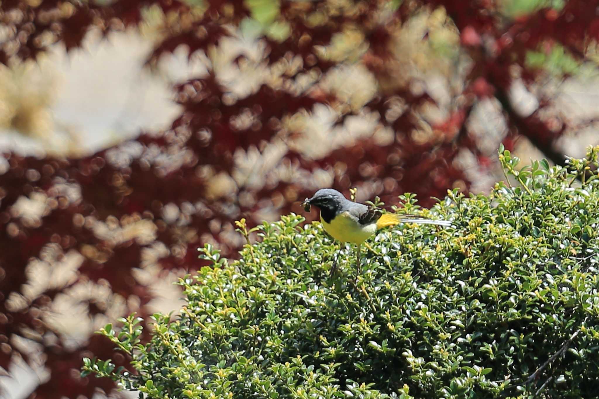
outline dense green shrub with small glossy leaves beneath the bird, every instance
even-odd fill
[[[432,209],[410,194],[401,212],[452,220],[401,225],[363,252],[298,215],[253,229],[261,242],[180,282],[181,315],[102,333],[137,374],[84,360],[152,398],[597,397],[599,147],[568,168],[500,153],[519,187],[451,191]],[[241,233],[249,234],[238,223]]]

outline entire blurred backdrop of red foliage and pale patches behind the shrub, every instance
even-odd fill
[[[597,144],[599,2],[0,3],[0,395],[123,395],[93,331],[334,187],[431,206]],[[305,214],[317,217],[315,211]],[[176,314],[176,313],[175,313]]]

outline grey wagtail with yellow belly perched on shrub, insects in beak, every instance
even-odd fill
[[[447,220],[431,220],[418,215],[383,214],[380,209],[363,203],[353,202],[332,188],[321,188],[303,202],[304,210],[310,206],[320,208],[320,221],[327,233],[341,242],[358,244],[357,269],[360,272],[360,246],[368,237],[383,227],[400,223],[436,224],[450,226]]]

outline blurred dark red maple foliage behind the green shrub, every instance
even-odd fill
[[[174,87],[183,112],[166,132],[144,133],[84,159],[5,154],[8,166],[0,174],[0,366],[8,369],[13,355],[29,360],[13,345],[15,336],[26,337],[41,344],[52,373],[35,397],[91,397],[98,388],[111,392],[114,386],[106,379],[78,377],[81,358],[112,358],[117,365],[125,365],[125,358],[99,336],[65,345],[63,332],[52,322],[59,296],[74,296],[78,286],[90,287],[90,293],[109,287],[106,297],[80,299],[89,316],[104,315],[111,301],[132,297],[134,305],[112,316],[131,310],[147,316],[153,294],[134,270],[149,263],[163,270],[197,269],[203,263],[195,249],[204,242],[215,242],[225,255],[234,256],[241,240],[232,221],[246,217],[259,223],[257,215],[265,208],[270,215],[300,212],[299,200],[319,188],[322,171],[333,187],[365,187],[369,196],[380,195],[388,203],[405,191],[418,193],[429,205],[431,196],[443,197],[447,188],[468,190],[471,177],[457,162],[459,154],[472,154],[481,170],[495,155],[481,145],[488,140],[485,133],[470,123],[473,109],[485,99],[501,105],[507,132],[500,139],[507,148],[526,136],[553,162],[563,163],[564,154],[553,143],[568,129],[568,120],[555,112],[549,120],[544,110],[551,102],[542,97],[534,112],[523,115],[510,89],[517,79],[533,87],[543,77],[543,69],[527,63],[530,51],[561,45],[574,59],[584,60],[599,39],[598,5],[570,0],[560,10],[510,16],[490,0],[282,0],[277,21],[288,25],[289,35],[282,40],[264,36],[262,60],[240,56],[235,62],[242,72],[258,65],[285,72],[244,98],[232,95],[211,69]],[[5,0],[0,20],[8,39],[0,45],[0,62],[35,59],[55,42],[67,50],[80,47],[92,29],[107,34],[137,27],[150,6],[177,23],[165,23],[149,64],[180,45],[190,54],[208,52],[252,16],[243,0],[208,0],[203,13],[177,0]],[[419,25],[410,29],[415,21]],[[354,47],[345,53],[335,49],[336,41],[348,37],[358,38]],[[445,61],[431,50],[439,38],[453,45]],[[461,57],[470,62],[459,62]],[[326,89],[323,81],[330,72],[356,63],[374,77],[373,95],[352,102]],[[429,75],[420,72],[440,70],[447,80],[459,77],[455,79],[461,84],[452,87],[446,112],[430,118],[426,110],[438,108],[439,100],[427,89]],[[310,83],[302,84],[307,77]],[[302,144],[305,126],[294,123],[294,115],[308,115],[319,105],[332,110],[334,127],[342,128],[352,117],[374,115],[385,139],[362,135],[334,145],[335,137],[325,135]],[[556,117],[559,129],[552,128]],[[273,142],[284,148],[275,165],[252,162],[252,153],[263,153]],[[318,155],[308,154],[302,145],[316,147]],[[261,175],[261,184],[236,179],[234,190],[215,194],[214,176],[234,175],[244,156],[253,165],[246,175]],[[19,211],[19,201],[41,206],[37,216]],[[75,267],[64,281],[57,282],[50,272],[43,288],[34,289],[32,273],[39,262],[52,266],[50,270],[68,269],[73,262]]]

